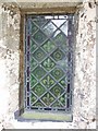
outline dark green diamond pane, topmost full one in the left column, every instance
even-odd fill
[[[46,35],[41,32],[41,31],[38,31],[34,36],[33,38],[38,43],[38,44],[41,44],[44,43],[47,37]]]

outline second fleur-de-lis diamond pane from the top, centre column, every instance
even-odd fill
[[[42,63],[41,66],[47,70],[47,71],[50,71],[54,66],[56,63],[50,59],[50,58],[47,58]]]

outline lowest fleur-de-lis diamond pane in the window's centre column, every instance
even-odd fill
[[[47,93],[41,99],[47,106],[49,106],[54,100],[53,96],[49,93]]]

